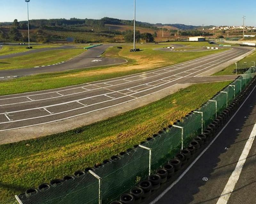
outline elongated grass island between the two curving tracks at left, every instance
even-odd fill
[[[0,60],[0,70],[33,68],[66,61],[84,52],[84,49],[60,49]]]

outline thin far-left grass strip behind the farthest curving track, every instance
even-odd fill
[[[29,49],[26,49],[26,45],[4,45],[2,49],[0,49],[0,56],[1,55],[9,55],[13,53],[20,53],[20,52],[27,52]],[[48,47],[59,47],[59,46],[53,46],[53,45],[33,45],[33,49],[40,49],[40,48],[48,48]]]

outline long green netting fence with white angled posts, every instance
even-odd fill
[[[136,148],[108,163],[37,193],[20,194],[9,203],[17,204],[97,204],[110,203],[129,191],[140,179],[173,158],[180,149],[201,134],[255,76],[255,67],[246,71],[198,110],[141,142]],[[16,201],[17,200],[17,201]],[[9,204],[8,203],[8,204]]]

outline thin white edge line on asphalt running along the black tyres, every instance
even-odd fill
[[[241,107],[244,105],[244,103],[247,101],[247,99],[252,95],[252,92],[255,90],[256,86],[254,86],[253,90],[251,91],[251,93],[247,96],[247,98],[244,100],[244,102],[242,103],[242,105],[237,109],[236,113],[234,113],[234,115],[230,118],[230,120],[228,120],[227,124],[220,130],[220,132],[218,133],[218,135],[216,137],[213,138],[212,142],[201,152],[200,155],[198,155],[198,157],[196,157],[196,159],[188,166],[188,168],[179,176],[178,179],[176,179],[168,188],[166,188],[164,190],[163,193],[161,193],[159,196],[157,196],[155,198],[155,200],[153,200],[152,202],[150,202],[150,204],[156,204],[161,198],[164,197],[164,195],[166,193],[168,193],[168,191],[170,191],[172,189],[173,186],[175,186],[180,179],[183,178],[183,176],[185,176],[185,174],[191,169],[191,167],[196,164],[196,162],[198,161],[198,159],[200,157],[202,157],[202,155],[207,151],[207,149],[209,149],[209,147],[213,144],[213,142],[215,142],[215,140],[220,136],[220,134],[223,132],[223,130],[228,126],[228,124],[230,123],[230,121],[236,116],[236,114],[238,113],[238,111],[241,109]]]

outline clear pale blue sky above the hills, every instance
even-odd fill
[[[245,2],[245,3],[244,3]],[[136,0],[136,20],[149,23],[189,25],[256,26],[255,0]],[[27,19],[23,0],[0,0],[0,22]],[[133,19],[133,0],[31,0],[29,18],[95,18]]]

